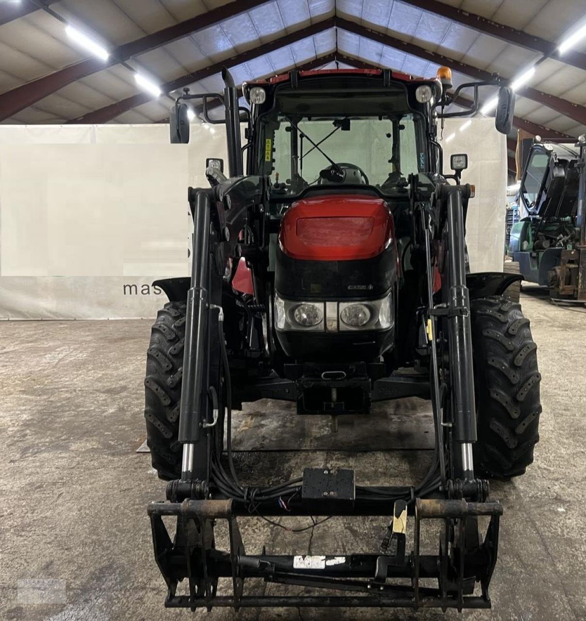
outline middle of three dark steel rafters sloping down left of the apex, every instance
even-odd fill
[[[268,54],[269,52],[279,50],[286,45],[291,45],[291,43],[298,42],[300,39],[305,39],[306,37],[311,37],[318,32],[323,32],[323,30],[330,29],[333,26],[334,18],[330,17],[300,30],[295,30],[295,32],[284,35],[284,37],[279,37],[279,39],[275,39],[274,41],[271,41],[269,43],[263,43],[263,45],[259,45],[258,47],[255,47],[251,50],[241,52],[240,54],[237,54],[230,58],[224,58],[217,63],[212,63],[212,65],[208,65],[207,67],[204,67],[202,69],[192,71],[192,73],[187,73],[187,75],[181,76],[181,78],[176,78],[174,80],[171,80],[170,82],[161,84],[161,90],[169,93],[170,91],[175,91],[179,88],[183,88],[184,86],[189,86],[189,84],[199,82],[204,78],[209,78],[216,73],[220,73],[220,71],[222,71],[222,67],[224,66],[230,68],[235,65],[240,65],[241,63],[246,63],[249,60],[253,60],[254,58],[258,58],[259,56]],[[77,119],[72,119],[68,121],[68,123],[107,123],[109,120],[115,119],[115,117],[119,116],[123,112],[131,110],[132,108],[135,108],[142,104],[146,104],[146,102],[151,101],[151,99],[153,99],[153,96],[148,93],[137,93],[135,95],[132,95],[131,97],[122,99],[122,101],[117,101],[114,104],[110,104],[109,106],[94,110],[93,112],[88,112],[88,114],[84,114],[84,116],[78,117]]]

